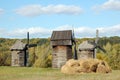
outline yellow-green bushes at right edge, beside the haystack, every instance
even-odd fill
[[[112,69],[120,69],[120,44],[111,45],[108,42],[104,49],[106,54],[98,53],[97,58],[107,61]]]

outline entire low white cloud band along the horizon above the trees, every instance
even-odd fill
[[[74,32],[77,38],[84,38],[84,37],[95,37],[96,36],[96,29],[99,30],[99,36],[120,36],[120,24],[113,25],[113,26],[102,26],[97,28],[92,27],[75,27]],[[26,34],[29,31],[30,37],[36,38],[47,38],[51,37],[53,30],[73,30],[71,25],[63,25],[56,27],[54,29],[44,28],[44,27],[30,27],[24,29],[14,29],[13,31],[3,31],[0,29],[0,34],[4,34],[2,37],[10,37],[10,38],[26,38]]]

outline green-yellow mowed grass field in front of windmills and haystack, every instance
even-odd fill
[[[52,68],[1,66],[0,80],[120,80],[120,70],[108,74],[63,74]]]

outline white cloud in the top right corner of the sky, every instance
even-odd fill
[[[93,9],[95,11],[102,11],[102,10],[115,10],[120,11],[120,0],[108,0],[107,2],[94,6]]]

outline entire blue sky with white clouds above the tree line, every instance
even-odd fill
[[[120,0],[0,0],[0,38],[51,37],[74,30],[75,37],[120,36]]]

